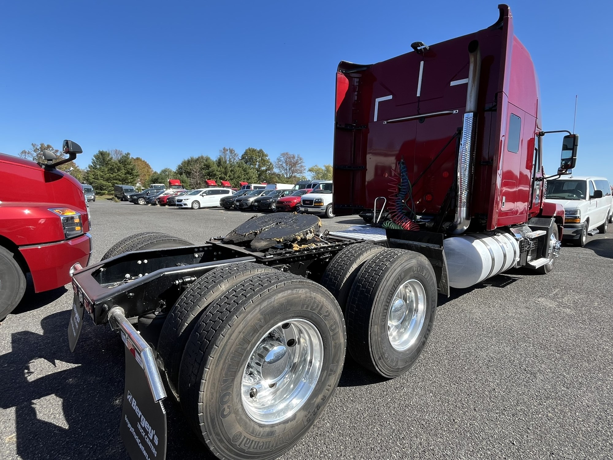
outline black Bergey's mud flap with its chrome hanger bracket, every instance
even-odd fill
[[[151,347],[129,323],[121,307],[109,311],[109,323],[119,329],[126,353],[120,433],[132,460],[166,459],[166,390]]]

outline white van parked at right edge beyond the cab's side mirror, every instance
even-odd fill
[[[563,241],[584,246],[587,235],[605,233],[613,223],[611,185],[604,177],[561,177],[547,181],[545,201],[564,207]]]

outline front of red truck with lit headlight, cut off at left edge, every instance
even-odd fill
[[[78,180],[56,169],[82,150],[66,140],[63,147],[69,158],[51,163],[55,155],[46,152],[48,164],[0,153],[0,320],[21,301],[26,274],[39,293],[70,283],[70,268],[89,262],[85,194]]]

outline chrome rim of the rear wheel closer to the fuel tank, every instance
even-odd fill
[[[407,350],[419,337],[426,302],[424,285],[417,280],[405,281],[396,289],[387,309],[387,337],[395,350]]]

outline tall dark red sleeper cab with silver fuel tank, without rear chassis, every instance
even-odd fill
[[[543,136],[568,133],[561,174],[579,143],[543,131],[534,64],[509,7],[498,8],[487,29],[414,42],[377,64],[343,61],[337,72],[334,182],[346,186],[334,191],[335,213],[371,221],[379,197],[397,226],[444,236],[454,287],[483,279],[465,273],[466,259],[486,277],[517,266],[517,255],[552,269],[564,210],[544,202]],[[449,260],[451,251],[462,258]]]

